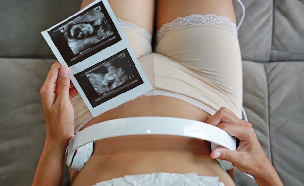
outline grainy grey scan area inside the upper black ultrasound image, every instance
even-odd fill
[[[59,29],[73,54],[84,52],[114,34],[108,20],[97,6]]]

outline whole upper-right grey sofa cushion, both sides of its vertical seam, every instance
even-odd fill
[[[234,0],[237,20],[241,6]],[[243,60],[304,60],[304,1],[243,0],[245,20],[238,31]]]

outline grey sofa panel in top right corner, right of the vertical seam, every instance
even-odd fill
[[[275,0],[270,61],[304,60],[304,1]]]

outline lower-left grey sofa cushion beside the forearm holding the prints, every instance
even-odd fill
[[[39,91],[54,62],[0,58],[1,186],[33,181],[46,132]]]

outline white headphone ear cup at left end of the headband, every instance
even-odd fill
[[[74,171],[80,171],[85,163],[90,159],[93,153],[93,142],[79,147],[74,154],[70,168]]]

